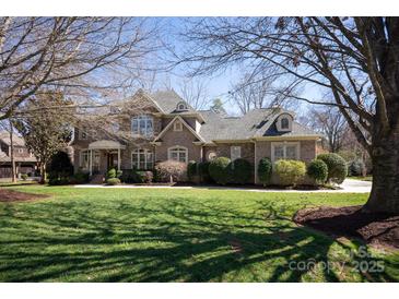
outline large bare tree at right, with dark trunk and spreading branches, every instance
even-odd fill
[[[295,98],[340,110],[373,160],[364,211],[399,213],[399,17],[218,17],[191,28],[180,63],[197,74],[245,62],[329,91],[333,103]]]

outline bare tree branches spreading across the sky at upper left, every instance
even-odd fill
[[[156,48],[143,19],[0,17],[0,119],[40,89],[97,101],[134,83]]]

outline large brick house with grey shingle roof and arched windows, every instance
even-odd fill
[[[128,117],[122,113],[136,106],[146,108]],[[257,169],[263,157],[309,162],[317,154],[320,139],[296,122],[293,112],[281,108],[228,117],[213,110],[195,110],[174,91],[149,94],[140,89],[120,109],[124,117],[117,128],[129,132],[130,141],[110,140],[102,137],[99,130],[90,133],[75,128],[71,143],[75,169],[94,175],[113,167],[152,169],[155,163],[167,159],[188,163],[219,156],[245,158]],[[254,171],[254,182],[258,182],[256,177]]]

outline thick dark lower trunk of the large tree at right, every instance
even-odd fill
[[[366,212],[399,214],[399,124],[396,127],[384,136],[374,134],[373,188]]]

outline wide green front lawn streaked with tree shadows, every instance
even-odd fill
[[[360,273],[357,241],[291,222],[298,208],[366,194],[11,188],[54,196],[0,203],[1,282],[399,280],[397,254],[368,249],[385,271]],[[314,267],[292,267],[308,260]]]

